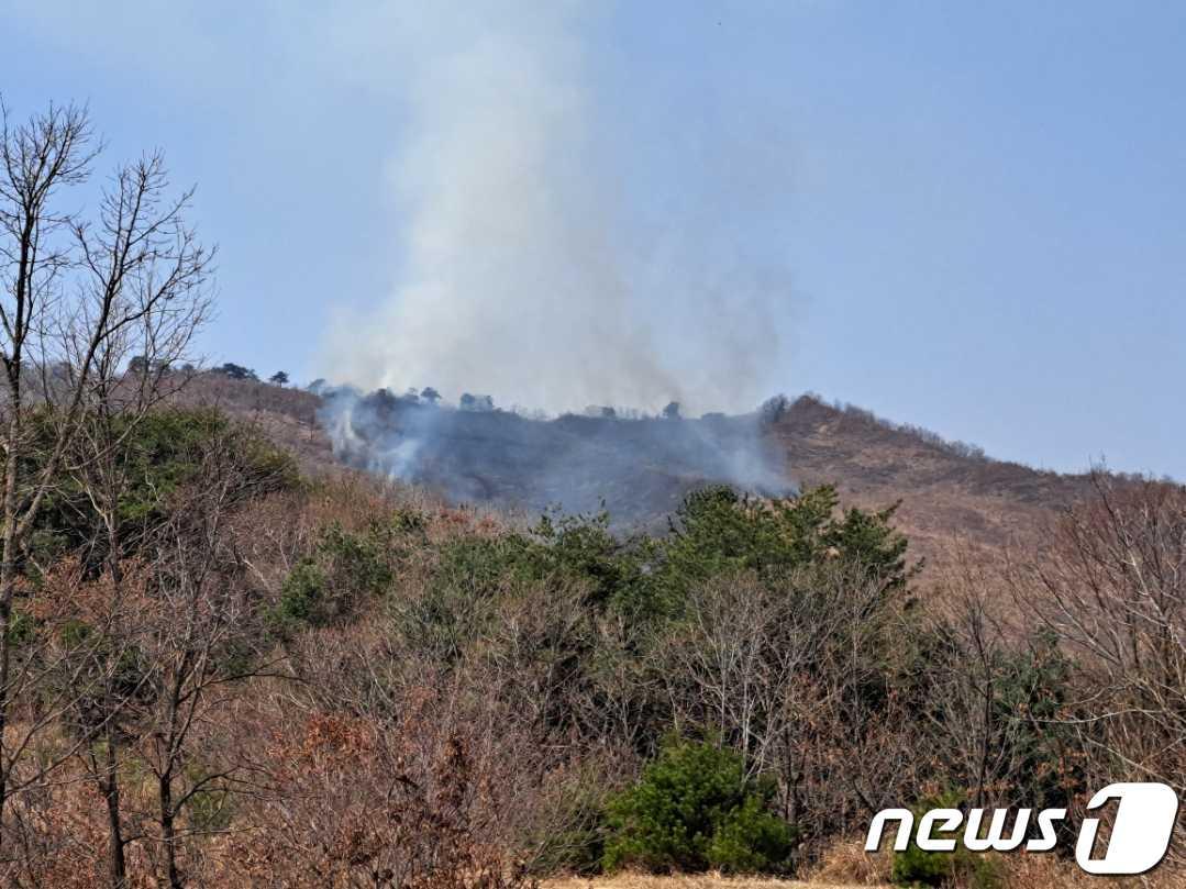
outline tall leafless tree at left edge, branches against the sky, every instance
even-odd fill
[[[138,418],[168,394],[170,367],[209,312],[212,254],[184,223],[191,192],[167,199],[159,154],[116,171],[95,219],[59,209],[62,193],[88,179],[98,147],[83,108],[51,107],[20,126],[4,111],[0,816],[14,756],[27,747],[4,733],[19,690],[8,631],[40,510],[63,478],[83,480],[119,584],[126,479],[117,452]],[[141,372],[121,373],[133,353],[142,358]]]

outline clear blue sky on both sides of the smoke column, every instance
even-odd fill
[[[433,101],[425,59],[505,18],[528,51],[562,44],[620,241],[671,226],[684,264],[727,243],[772,269],[755,385],[1186,478],[1186,5],[621,2],[538,32],[542,0],[431,28],[378,0],[5,6],[13,113],[88,101],[107,162],[160,146],[198,184],[212,360],[308,379],[343,311],[387,322],[368,313],[407,271],[393,165]]]

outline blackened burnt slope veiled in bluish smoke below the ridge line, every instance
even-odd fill
[[[344,462],[455,501],[537,513],[610,511],[618,527],[663,522],[691,490],[759,494],[793,484],[759,414],[623,417],[612,410],[529,418],[483,396],[458,408],[385,390],[323,395],[320,418]]]

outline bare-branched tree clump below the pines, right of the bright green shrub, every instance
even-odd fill
[[[776,775],[805,837],[860,823],[906,778],[916,738],[884,687],[890,606],[881,578],[842,564],[779,583],[723,576],[693,590],[683,631],[656,652],[677,722]]]

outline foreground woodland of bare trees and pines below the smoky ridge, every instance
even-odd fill
[[[1063,885],[1066,850],[861,844],[887,807],[1072,831],[1107,784],[1181,788],[1182,487],[1099,474],[931,576],[829,485],[627,535],[310,473],[186,396],[211,252],[162,160],[63,210],[95,145],[60,107],[0,158],[6,885]]]

